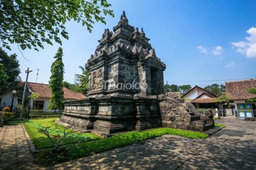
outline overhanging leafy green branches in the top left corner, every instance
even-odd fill
[[[114,17],[107,0],[1,0],[0,40],[11,50],[9,43],[21,49],[44,48],[52,40],[61,45],[59,35],[68,40],[64,24],[75,20],[92,31],[94,22],[106,24],[105,17]]]

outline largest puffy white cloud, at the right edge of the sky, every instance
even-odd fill
[[[256,28],[252,27],[246,31],[250,37],[245,37],[247,41],[230,42],[236,48],[236,52],[245,55],[247,58],[256,58]]]

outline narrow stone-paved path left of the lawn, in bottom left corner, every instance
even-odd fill
[[[0,127],[0,170],[38,169],[21,125]]]

